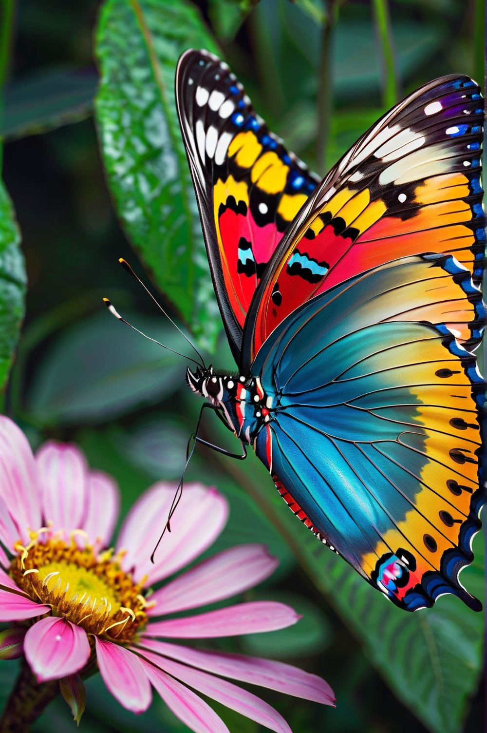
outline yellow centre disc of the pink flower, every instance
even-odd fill
[[[32,534],[32,541],[10,564],[10,576],[33,600],[51,605],[53,616],[64,616],[86,633],[118,642],[131,641],[147,621],[141,583],[122,570],[121,555],[101,555],[89,545],[78,547],[75,537],[65,542]]]

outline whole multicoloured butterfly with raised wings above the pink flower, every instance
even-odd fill
[[[321,182],[217,56],[181,56],[176,106],[238,367],[188,385],[395,605],[479,611],[458,579],[486,501],[479,87],[417,89]]]

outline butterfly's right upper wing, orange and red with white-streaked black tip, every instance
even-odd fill
[[[466,76],[423,86],[373,125],[308,199],[275,252],[245,324],[242,369],[286,315],[384,262],[450,253],[480,282],[482,138],[483,100]]]

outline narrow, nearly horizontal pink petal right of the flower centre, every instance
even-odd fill
[[[170,636],[176,638],[215,638],[216,636],[241,636],[285,629],[301,617],[293,608],[274,601],[253,601],[229,605],[218,611],[189,616],[187,619],[170,619],[150,623],[144,636]]]

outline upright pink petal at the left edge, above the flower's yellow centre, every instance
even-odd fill
[[[37,469],[26,436],[4,416],[0,416],[0,496],[17,527],[15,539],[29,542],[28,530],[41,526]]]

